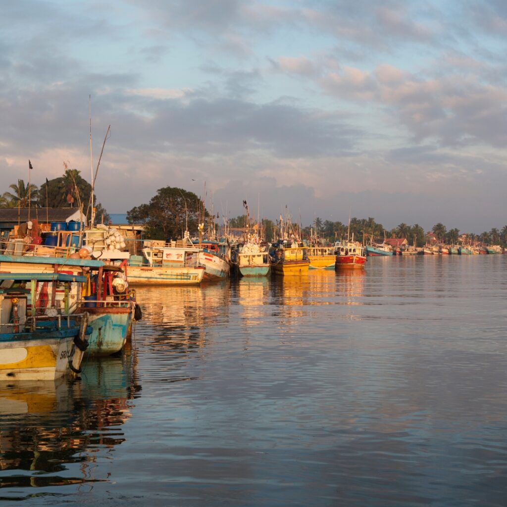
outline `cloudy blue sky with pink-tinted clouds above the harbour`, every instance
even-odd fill
[[[0,192],[64,162],[110,213],[507,224],[503,0],[0,0]],[[90,115],[91,111],[91,115]],[[28,159],[33,170],[28,174]]]

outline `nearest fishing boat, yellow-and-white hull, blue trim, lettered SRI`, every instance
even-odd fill
[[[54,380],[81,373],[88,346],[88,313],[69,314],[38,305],[39,284],[63,287],[86,277],[62,272],[0,273],[0,380]],[[29,287],[29,288],[28,288]]]

